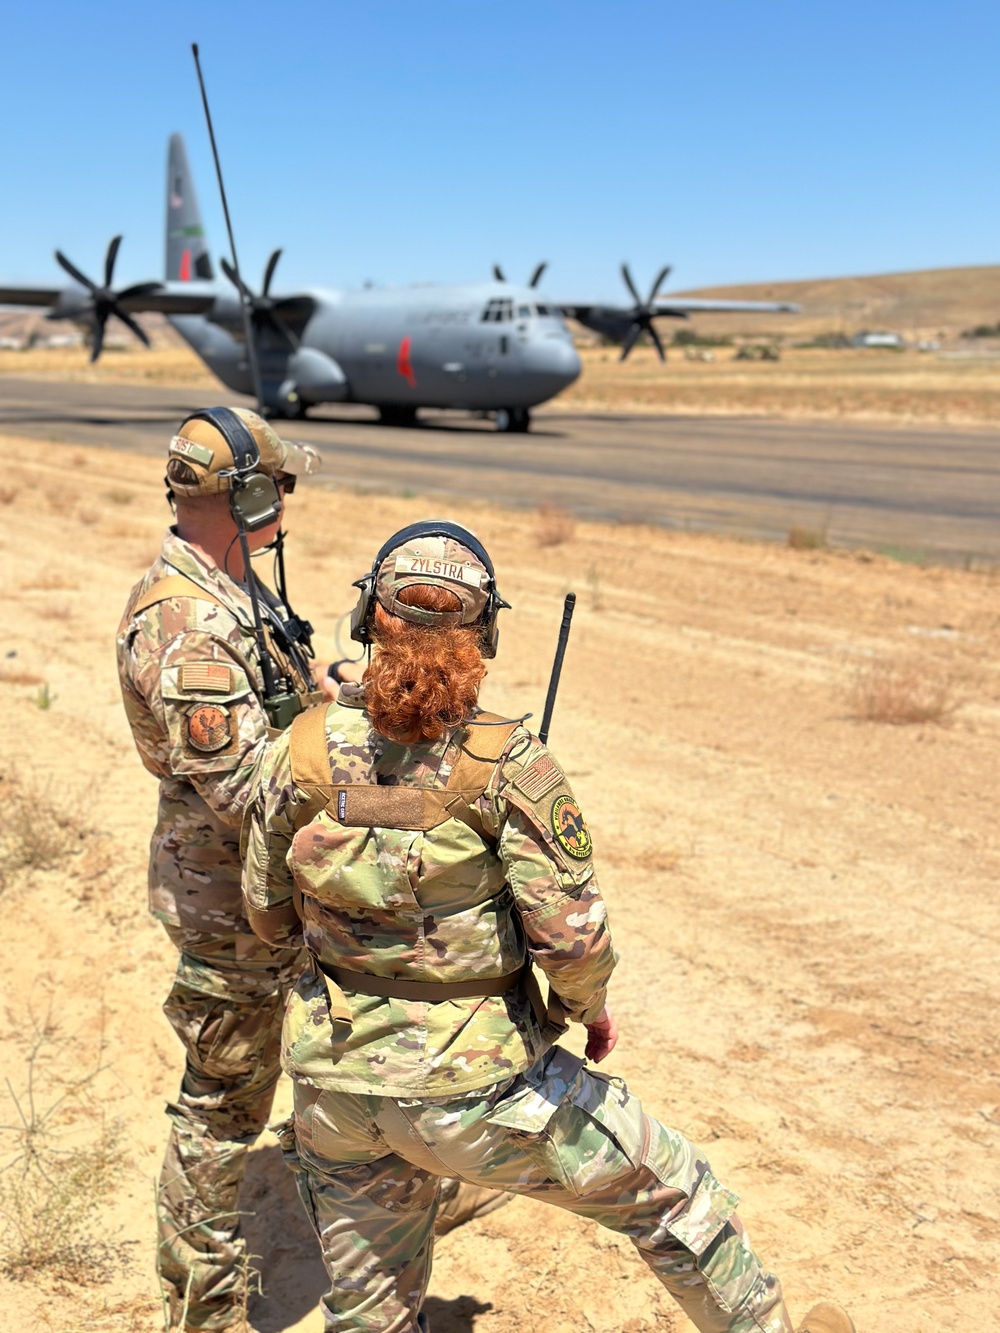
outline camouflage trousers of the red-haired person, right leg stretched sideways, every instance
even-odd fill
[[[513,1080],[448,1101],[296,1084],[283,1146],[323,1246],[324,1316],[337,1333],[416,1329],[443,1176],[627,1236],[703,1333],[791,1333],[737,1197],[623,1082],[559,1046]]]

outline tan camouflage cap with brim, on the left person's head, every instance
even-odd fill
[[[260,452],[256,472],[275,477],[281,473],[301,476],[316,472],[320,456],[308,444],[292,444],[249,408],[229,408],[247,427]],[[171,467],[177,463],[185,468]],[[168,449],[167,480],[179,496],[209,496],[229,489],[229,479],[220,477],[235,464],[233,452],[223,432],[211,421],[187,417],[173,436]]]

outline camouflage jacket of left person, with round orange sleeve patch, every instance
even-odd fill
[[[176,573],[221,605],[171,597],[132,613],[147,588]],[[191,930],[247,933],[239,829],[267,738],[248,593],[168,532],[159,559],[129,596],[117,663],[139,756],[160,780],[149,909]],[[292,672],[280,656],[279,666]],[[296,688],[311,686],[295,678]]]

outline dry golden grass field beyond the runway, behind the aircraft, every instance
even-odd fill
[[[720,320],[721,316],[716,316],[716,324]],[[660,332],[669,339],[671,321],[661,323]],[[771,335],[765,332],[759,340],[768,343]],[[789,341],[793,339],[787,337]],[[579,351],[583,375],[543,412],[755,415],[956,425],[1000,423],[997,343],[968,344],[937,353],[785,345],[780,361],[736,361],[733,347],[707,349],[713,360],[697,361],[688,360],[681,348],[669,348],[665,365],[651,348],[637,348],[624,364],[619,363],[616,348],[581,347]],[[93,367],[84,348],[0,351],[0,375],[93,384],[219,387],[219,380],[184,347],[155,347],[152,352],[139,347],[109,349]]]

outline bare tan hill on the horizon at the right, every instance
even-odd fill
[[[803,308],[797,316],[697,316],[696,327],[709,333],[753,329],[809,337],[827,332],[893,329],[909,339],[955,339],[963,329],[1000,320],[1000,265],[817,277],[801,283],[745,283],[677,295],[797,301]]]

